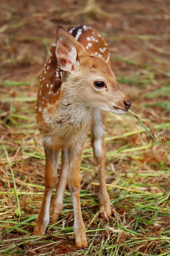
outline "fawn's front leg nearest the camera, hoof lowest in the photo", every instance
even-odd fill
[[[82,148],[79,150],[79,147],[69,150],[69,161],[70,161],[70,170],[68,174],[67,184],[70,190],[73,208],[74,208],[74,233],[76,238],[76,246],[78,248],[86,248],[86,230],[81,215],[81,206],[80,206],[80,164],[81,164],[81,155]]]

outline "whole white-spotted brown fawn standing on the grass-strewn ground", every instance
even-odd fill
[[[130,99],[120,90],[111,70],[105,39],[86,25],[69,30],[58,26],[56,43],[50,47],[49,59],[40,76],[35,106],[46,164],[44,196],[33,235],[43,235],[49,221],[57,222],[67,185],[73,201],[76,247],[88,248],[79,198],[81,156],[87,132],[91,126],[91,144],[99,166],[99,210],[110,216],[104,167],[106,112],[122,115],[130,107]]]

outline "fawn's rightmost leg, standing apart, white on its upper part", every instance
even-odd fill
[[[106,189],[105,180],[105,163],[106,163],[106,142],[104,138],[104,130],[106,124],[106,113],[94,109],[93,111],[93,124],[92,124],[92,147],[96,163],[100,165],[98,169],[99,177],[99,209],[101,216],[104,217],[105,213],[111,215],[110,199]]]

